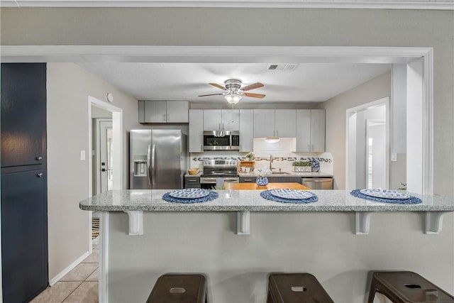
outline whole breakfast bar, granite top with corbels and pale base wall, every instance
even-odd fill
[[[204,273],[216,303],[266,302],[270,272],[310,272],[342,303],[367,300],[372,270],[418,272],[454,292],[452,197],[389,204],[310,190],[318,201],[282,203],[228,189],[182,204],[162,199],[167,192],[112,190],[80,202],[101,211],[99,302],[145,302],[167,272]]]

